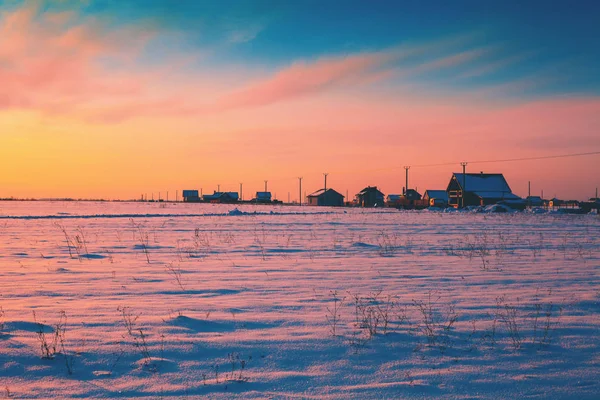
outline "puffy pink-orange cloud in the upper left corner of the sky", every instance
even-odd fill
[[[70,13],[39,14],[35,6],[0,15],[0,109],[72,112],[90,99],[139,93],[144,74],[108,71],[100,58],[129,61],[151,33],[107,31]]]

